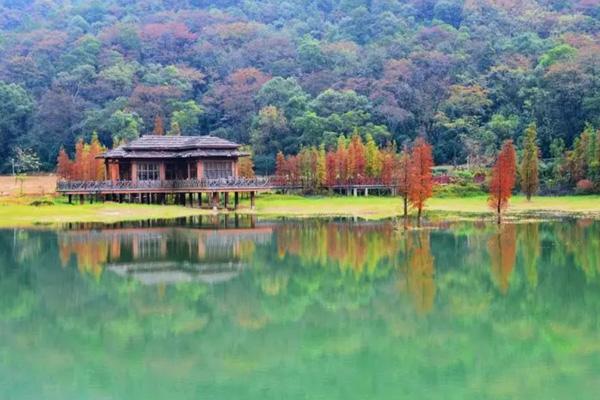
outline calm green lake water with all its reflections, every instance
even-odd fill
[[[593,221],[0,231],[0,399],[597,399],[599,316]]]

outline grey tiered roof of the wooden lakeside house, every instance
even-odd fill
[[[243,157],[241,146],[216,136],[144,135],[102,155],[104,158]]]

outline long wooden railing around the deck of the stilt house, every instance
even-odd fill
[[[224,189],[270,189],[269,177],[256,178],[223,178],[223,179],[182,179],[171,181],[59,181],[58,192],[101,193],[111,191],[140,190],[224,190]]]

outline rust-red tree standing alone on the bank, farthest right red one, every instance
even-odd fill
[[[516,158],[512,140],[507,140],[502,145],[502,150],[492,169],[488,203],[498,215],[498,224],[502,222],[502,211],[508,207],[515,186]]]

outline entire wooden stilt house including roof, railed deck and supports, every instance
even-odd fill
[[[118,202],[198,204],[206,193],[209,207],[228,207],[234,194],[271,190],[268,178],[240,177],[239,160],[250,154],[240,145],[215,136],[145,135],[100,155],[106,165],[105,181],[59,181],[57,191]]]

